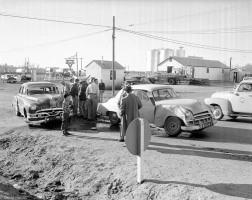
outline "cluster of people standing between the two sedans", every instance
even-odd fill
[[[89,80],[89,83],[87,82]],[[70,79],[70,83],[61,81],[64,93],[63,101],[63,119],[62,131],[63,135],[69,135],[69,115],[70,108],[73,109],[73,116],[84,118],[88,121],[96,120],[96,111],[98,102],[103,101],[103,93],[105,91],[105,84],[101,80],[98,84],[96,78],[85,78],[80,81],[78,78],[75,80]]]

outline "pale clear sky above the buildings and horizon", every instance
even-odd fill
[[[126,69],[146,71],[147,51],[158,48],[252,63],[251,0],[0,0],[0,64],[112,60],[113,16],[115,60]]]

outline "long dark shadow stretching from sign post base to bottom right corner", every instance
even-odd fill
[[[187,185],[199,188],[205,188],[207,190],[224,194],[233,197],[247,198],[252,199],[252,185],[249,184],[227,184],[227,183],[218,183],[218,184],[210,184],[210,185],[200,185],[179,181],[159,181],[155,179],[146,179],[144,182],[156,183],[156,184],[180,184]]]

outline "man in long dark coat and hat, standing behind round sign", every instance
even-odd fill
[[[125,86],[124,90],[127,96],[123,97],[120,103],[120,115],[122,116],[122,130],[120,132],[119,142],[124,142],[124,136],[129,124],[140,117],[139,109],[142,108],[141,100],[132,93],[130,85]]]

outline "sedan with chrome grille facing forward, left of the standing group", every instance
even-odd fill
[[[63,95],[51,82],[27,82],[13,97],[17,116],[24,116],[29,126],[61,119]]]

